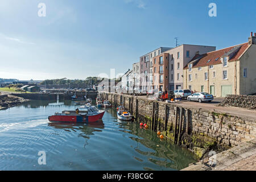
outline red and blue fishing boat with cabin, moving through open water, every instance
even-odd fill
[[[76,110],[65,110],[62,113],[55,113],[48,117],[49,121],[59,122],[96,122],[102,119],[105,111],[98,110],[95,106],[85,105],[78,107]]]

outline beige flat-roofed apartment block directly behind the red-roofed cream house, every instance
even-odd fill
[[[216,47],[213,46],[183,44],[165,51],[164,53],[169,54],[168,90],[183,89],[183,68],[191,61],[192,57],[197,53],[204,54],[215,50]]]

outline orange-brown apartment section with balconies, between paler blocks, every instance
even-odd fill
[[[152,62],[152,89],[165,91],[169,85],[169,54],[162,53]]]

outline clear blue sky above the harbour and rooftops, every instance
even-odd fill
[[[217,17],[208,15],[212,2]],[[255,7],[254,0],[2,0],[0,78],[123,73],[139,56],[174,47],[175,37],[217,49],[245,43],[256,32]]]

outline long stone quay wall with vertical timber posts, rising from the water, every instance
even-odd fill
[[[256,136],[256,122],[247,118],[129,95],[101,95],[115,107],[125,106],[137,122],[147,123],[151,130],[162,131],[165,137],[190,148],[200,157],[210,150],[223,151]]]

